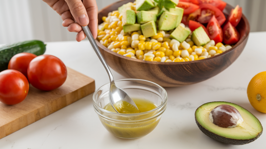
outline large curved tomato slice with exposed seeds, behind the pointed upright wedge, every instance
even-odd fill
[[[213,15],[216,17],[220,25],[222,25],[225,22],[226,20],[225,15],[220,9],[210,4],[200,4],[200,8],[201,8],[201,15],[197,19],[198,22],[202,24],[208,23]]]

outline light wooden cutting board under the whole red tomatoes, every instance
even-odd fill
[[[67,67],[65,83],[52,91],[40,91],[30,85],[24,101],[16,105],[0,102],[0,139],[93,93],[92,78]]]

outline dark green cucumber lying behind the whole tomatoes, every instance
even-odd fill
[[[7,69],[8,63],[14,55],[27,52],[39,56],[44,54],[45,46],[42,41],[30,40],[0,47],[0,72]]]

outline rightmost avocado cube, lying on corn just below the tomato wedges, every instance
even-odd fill
[[[209,36],[202,27],[199,27],[192,32],[191,40],[197,46],[205,45],[209,41],[211,41]]]

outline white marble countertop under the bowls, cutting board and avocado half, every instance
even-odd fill
[[[138,139],[111,135],[94,112],[92,95],[0,139],[2,149],[135,149],[135,148],[265,148],[266,134],[256,141],[233,146],[217,142],[201,132],[195,110],[211,101],[238,104],[254,114],[266,128],[266,114],[256,111],[248,101],[247,86],[257,73],[266,71],[266,32],[250,33],[239,58],[226,70],[201,83],[165,88],[168,103],[157,127]],[[95,79],[96,89],[109,82],[108,75],[88,40],[47,42],[45,54],[60,58],[66,66]],[[111,70],[114,79],[125,77]]]

